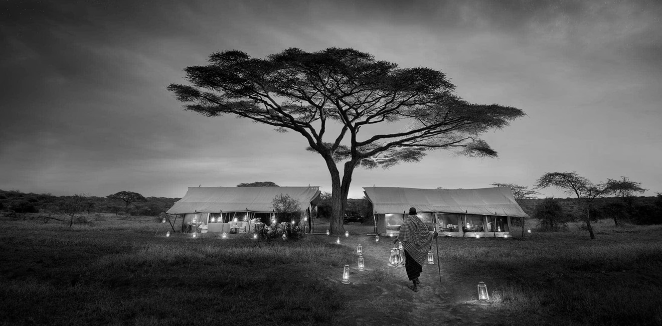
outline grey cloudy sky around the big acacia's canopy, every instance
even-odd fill
[[[662,1],[3,1],[0,189],[137,191],[330,176],[294,133],[184,111],[166,91],[219,50],[369,52],[444,72],[472,103],[528,115],[483,138],[496,159],[440,150],[357,169],[361,187],[530,186],[545,172],[628,176],[662,191]],[[547,189],[544,195],[567,197]]]

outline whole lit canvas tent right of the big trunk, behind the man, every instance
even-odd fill
[[[510,217],[528,217],[508,187],[479,189],[363,188],[371,201],[379,235],[398,235],[410,207],[440,235],[449,237],[504,237],[510,235]]]

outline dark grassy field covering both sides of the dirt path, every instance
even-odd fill
[[[355,247],[325,236],[166,238],[167,224],[154,218],[107,215],[71,229],[0,221],[0,325],[352,325],[352,314],[427,313],[412,307],[413,292],[389,285],[402,276],[369,257],[373,270],[340,285]],[[524,239],[440,238],[446,286],[455,288],[440,296],[471,305],[474,281],[483,280],[491,300],[475,307],[498,316],[481,319],[485,325],[662,325],[662,226],[604,221],[594,229],[594,241],[577,225]],[[369,242],[364,248],[375,250]],[[435,269],[426,268],[426,280]],[[387,290],[393,296],[379,296]]]

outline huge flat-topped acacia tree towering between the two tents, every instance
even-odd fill
[[[211,54],[207,66],[184,71],[190,85],[167,89],[187,103],[186,110],[293,131],[305,138],[307,150],[322,156],[331,177],[329,229],[334,234],[344,233],[343,213],[357,166],[418,162],[439,148],[496,157],[479,136],[524,116],[514,107],[464,101],[438,70],[399,68],[352,48],[289,48],[265,59],[229,50]],[[386,123],[395,123],[389,128],[393,132],[378,133]]]

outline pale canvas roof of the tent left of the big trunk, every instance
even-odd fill
[[[168,209],[169,214],[217,213],[220,211],[273,211],[273,197],[285,193],[305,209],[315,205],[319,187],[189,187],[186,195]]]

